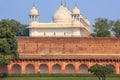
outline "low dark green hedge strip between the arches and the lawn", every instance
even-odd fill
[[[120,75],[111,74],[107,77],[120,77]],[[96,77],[93,74],[11,74],[8,77]]]

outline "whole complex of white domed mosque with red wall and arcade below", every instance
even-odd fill
[[[94,64],[111,65],[120,74],[120,39],[93,38],[90,22],[77,6],[61,4],[50,23],[41,23],[35,6],[29,13],[29,37],[17,37],[19,59],[0,72],[9,74],[88,74]]]

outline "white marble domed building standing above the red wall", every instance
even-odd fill
[[[81,15],[77,6],[70,11],[66,6],[61,5],[50,23],[39,22],[39,13],[35,6],[30,10],[29,17],[30,37],[88,37],[90,35],[90,22]]]

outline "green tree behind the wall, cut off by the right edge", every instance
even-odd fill
[[[114,22],[112,31],[116,37],[120,37],[120,20]]]

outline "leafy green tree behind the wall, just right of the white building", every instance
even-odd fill
[[[113,25],[113,21],[110,21],[108,19],[104,19],[104,18],[95,19],[92,36],[109,37],[111,35],[110,29],[112,25]]]

